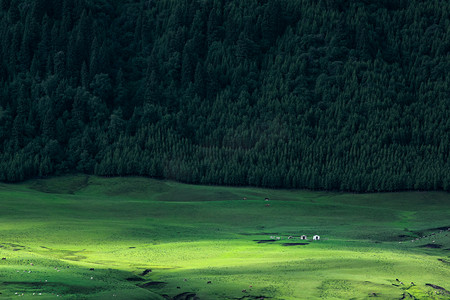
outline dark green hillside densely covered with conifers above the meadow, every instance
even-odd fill
[[[450,191],[450,2],[0,0],[0,180]]]

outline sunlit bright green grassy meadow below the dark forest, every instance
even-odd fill
[[[450,299],[449,227],[440,192],[0,184],[0,298]],[[302,234],[322,240],[283,245]]]

